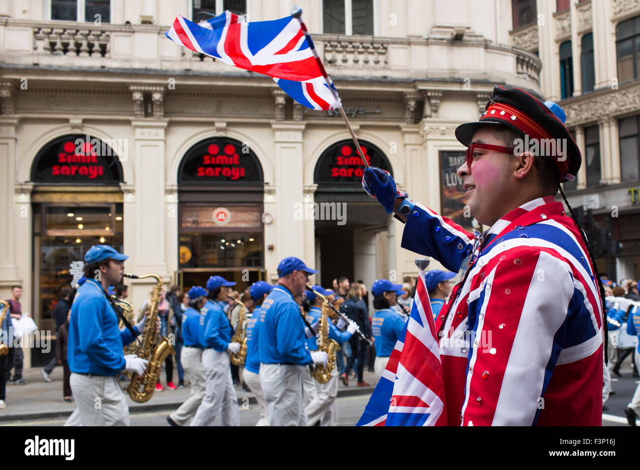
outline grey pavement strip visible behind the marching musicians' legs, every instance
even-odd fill
[[[177,384],[177,372],[174,372]],[[62,398],[62,367],[56,367],[51,373],[51,383],[47,383],[40,375],[40,368],[25,369],[22,377],[27,379],[26,385],[6,386],[6,409],[0,410],[0,422],[22,421],[30,419],[66,418],[74,409],[76,403],[65,403]],[[164,386],[164,372],[161,374]],[[338,396],[349,395],[371,395],[376,384],[373,372],[365,369],[364,380],[371,384],[370,387],[356,387],[356,380],[353,380],[353,372],[349,378],[349,386],[345,387],[339,381]],[[129,382],[121,382],[123,388]],[[191,394],[191,388],[187,384],[183,389],[171,390],[164,388],[163,392],[155,392],[151,400],[147,403],[136,403],[127,398],[129,411],[132,413],[142,411],[173,411],[177,409]],[[248,400],[250,404],[256,404],[255,395],[243,390],[241,386],[236,387],[238,403],[244,404]]]

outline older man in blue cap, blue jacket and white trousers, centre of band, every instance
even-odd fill
[[[260,382],[269,405],[270,426],[306,426],[303,408],[303,372],[308,364],[325,364],[323,351],[309,352],[305,329],[294,296],[301,295],[308,277],[317,271],[299,258],[278,264],[278,285],[262,302],[260,315]]]

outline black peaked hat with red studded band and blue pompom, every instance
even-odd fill
[[[560,106],[550,101],[543,103],[520,88],[496,85],[484,109],[478,121],[461,124],[456,128],[456,138],[460,143],[468,147],[481,125],[509,127],[523,137],[528,136],[531,142],[538,139],[541,143],[541,139],[549,139],[548,142],[553,143],[555,139],[566,139],[566,145],[552,145],[552,150],[557,148],[553,154],[553,161],[561,182],[575,180],[582,157],[580,149],[564,125],[564,111]],[[540,147],[542,148],[542,145]]]

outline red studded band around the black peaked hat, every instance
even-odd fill
[[[479,121],[482,122],[483,120],[504,121],[504,123],[519,129],[525,136],[529,136],[531,141],[537,139],[540,148],[542,148],[543,139],[545,139],[544,141],[550,143],[553,152],[552,155],[562,157],[562,159],[554,159],[561,175],[564,176],[568,173],[569,159],[566,155],[566,148],[557,148],[556,139],[550,136],[536,121],[532,120],[527,114],[522,113],[519,109],[494,101],[481,115]],[[524,150],[529,149],[525,148]]]

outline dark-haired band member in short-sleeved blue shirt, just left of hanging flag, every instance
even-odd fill
[[[389,356],[396,346],[396,341],[404,328],[406,319],[392,309],[396,305],[397,295],[402,295],[402,285],[394,284],[388,279],[378,279],[371,286],[373,293],[373,308],[376,313],[371,319],[374,346],[376,347],[376,360],[373,368],[376,372],[376,380],[380,380],[387,367]]]

